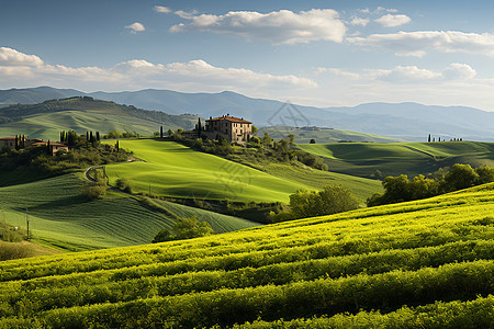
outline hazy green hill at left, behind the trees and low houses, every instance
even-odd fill
[[[59,132],[68,129],[79,134],[87,131],[106,134],[116,129],[151,136],[161,125],[166,131],[189,129],[197,120],[193,115],[169,115],[88,97],[70,98],[0,109],[0,136],[29,135],[31,138],[58,140]]]

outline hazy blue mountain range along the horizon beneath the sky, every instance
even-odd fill
[[[169,114],[189,113],[209,117],[229,113],[250,120],[258,126],[321,126],[418,141],[426,140],[428,134],[436,139],[440,137],[494,141],[494,112],[464,106],[368,103],[353,107],[314,107],[252,99],[231,91],[182,93],[147,89],[85,93],[49,87],[0,90],[0,106],[34,104],[74,95],[89,95]]]

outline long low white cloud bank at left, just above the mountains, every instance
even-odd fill
[[[71,68],[45,65],[37,56],[0,48],[0,88],[33,84],[91,91],[145,88],[186,92],[235,90],[257,97],[268,97],[271,92],[290,94],[317,88],[317,83],[308,78],[256,72],[245,68],[215,67],[201,59],[170,64],[133,59],[111,68]]]

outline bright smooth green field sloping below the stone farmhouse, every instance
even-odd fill
[[[144,161],[106,166],[112,184],[126,178],[136,191],[176,197],[288,202],[299,189],[321,189],[341,183],[361,201],[381,186],[377,181],[351,178],[288,164],[270,164],[266,171],[194,151],[173,141],[122,140],[121,147]]]

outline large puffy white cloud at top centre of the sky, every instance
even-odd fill
[[[201,14],[191,23],[171,26],[170,32],[212,32],[265,39],[273,44],[296,44],[312,41],[343,42],[345,24],[338,12],[312,9],[300,13],[290,10],[267,14],[252,11],[231,11],[224,15]]]

